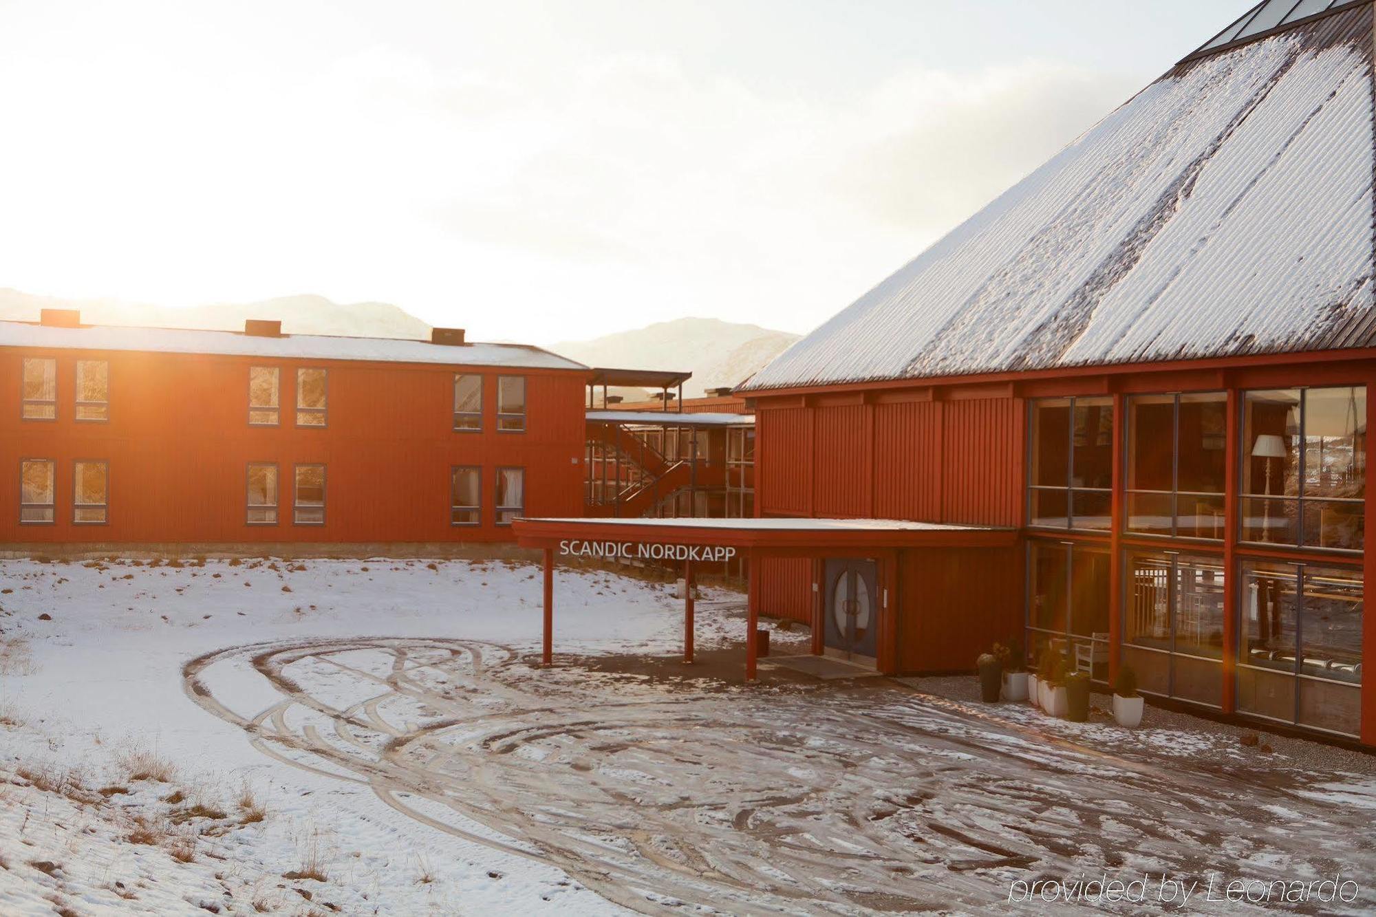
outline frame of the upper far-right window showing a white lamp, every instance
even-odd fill
[[[1309,482],[1306,481],[1309,472],[1309,392],[1310,391],[1326,391],[1326,390],[1343,390],[1343,388],[1361,388],[1364,391],[1364,398],[1370,397],[1370,391],[1365,383],[1351,383],[1351,384],[1318,384],[1318,386],[1267,386],[1258,388],[1243,388],[1238,390],[1238,419],[1237,419],[1237,518],[1229,520],[1229,525],[1236,526],[1237,544],[1240,549],[1255,551],[1255,549],[1278,549],[1278,551],[1293,551],[1299,554],[1313,554],[1317,556],[1332,556],[1336,562],[1342,563],[1346,559],[1361,558],[1366,547],[1366,533],[1362,531],[1362,547],[1361,548],[1333,548],[1321,544],[1307,544],[1306,542],[1306,505],[1307,504],[1344,504],[1350,507],[1365,507],[1366,500],[1370,494],[1366,493],[1365,483],[1362,487],[1361,497],[1333,497],[1328,494],[1309,496],[1304,493]],[[1252,457],[1252,443],[1248,442],[1248,395],[1254,392],[1263,391],[1285,391],[1293,390],[1299,392],[1299,443],[1298,443],[1298,460],[1295,464],[1296,481],[1299,483],[1299,493],[1293,497],[1287,494],[1262,494],[1252,493],[1252,487],[1247,486],[1247,463]],[[1355,439],[1355,434],[1354,434]],[[1370,443],[1366,443],[1368,449]],[[1370,461],[1370,456],[1364,452],[1365,460]],[[1255,482],[1254,482],[1255,483]],[[1295,505],[1295,541],[1256,541],[1247,537],[1247,519],[1248,519],[1248,504],[1251,501],[1260,501],[1270,505],[1284,507],[1285,504]],[[1343,560],[1339,560],[1343,559]],[[1350,560],[1346,560],[1350,562]]]

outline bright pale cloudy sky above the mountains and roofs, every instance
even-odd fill
[[[0,286],[805,332],[1248,6],[0,1]]]

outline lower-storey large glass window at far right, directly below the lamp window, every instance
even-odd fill
[[[1361,570],[1245,562],[1237,709],[1359,734],[1362,599]]]

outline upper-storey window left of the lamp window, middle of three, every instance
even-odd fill
[[[1227,394],[1127,401],[1127,530],[1223,538]]]

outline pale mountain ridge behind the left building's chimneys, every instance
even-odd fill
[[[429,337],[429,325],[389,303],[334,303],[323,296],[278,296],[257,303],[175,308],[114,299],[58,299],[0,289],[0,319],[37,321],[41,308],[77,308],[91,325],[244,330],[245,318],[278,318],[288,335]]]

